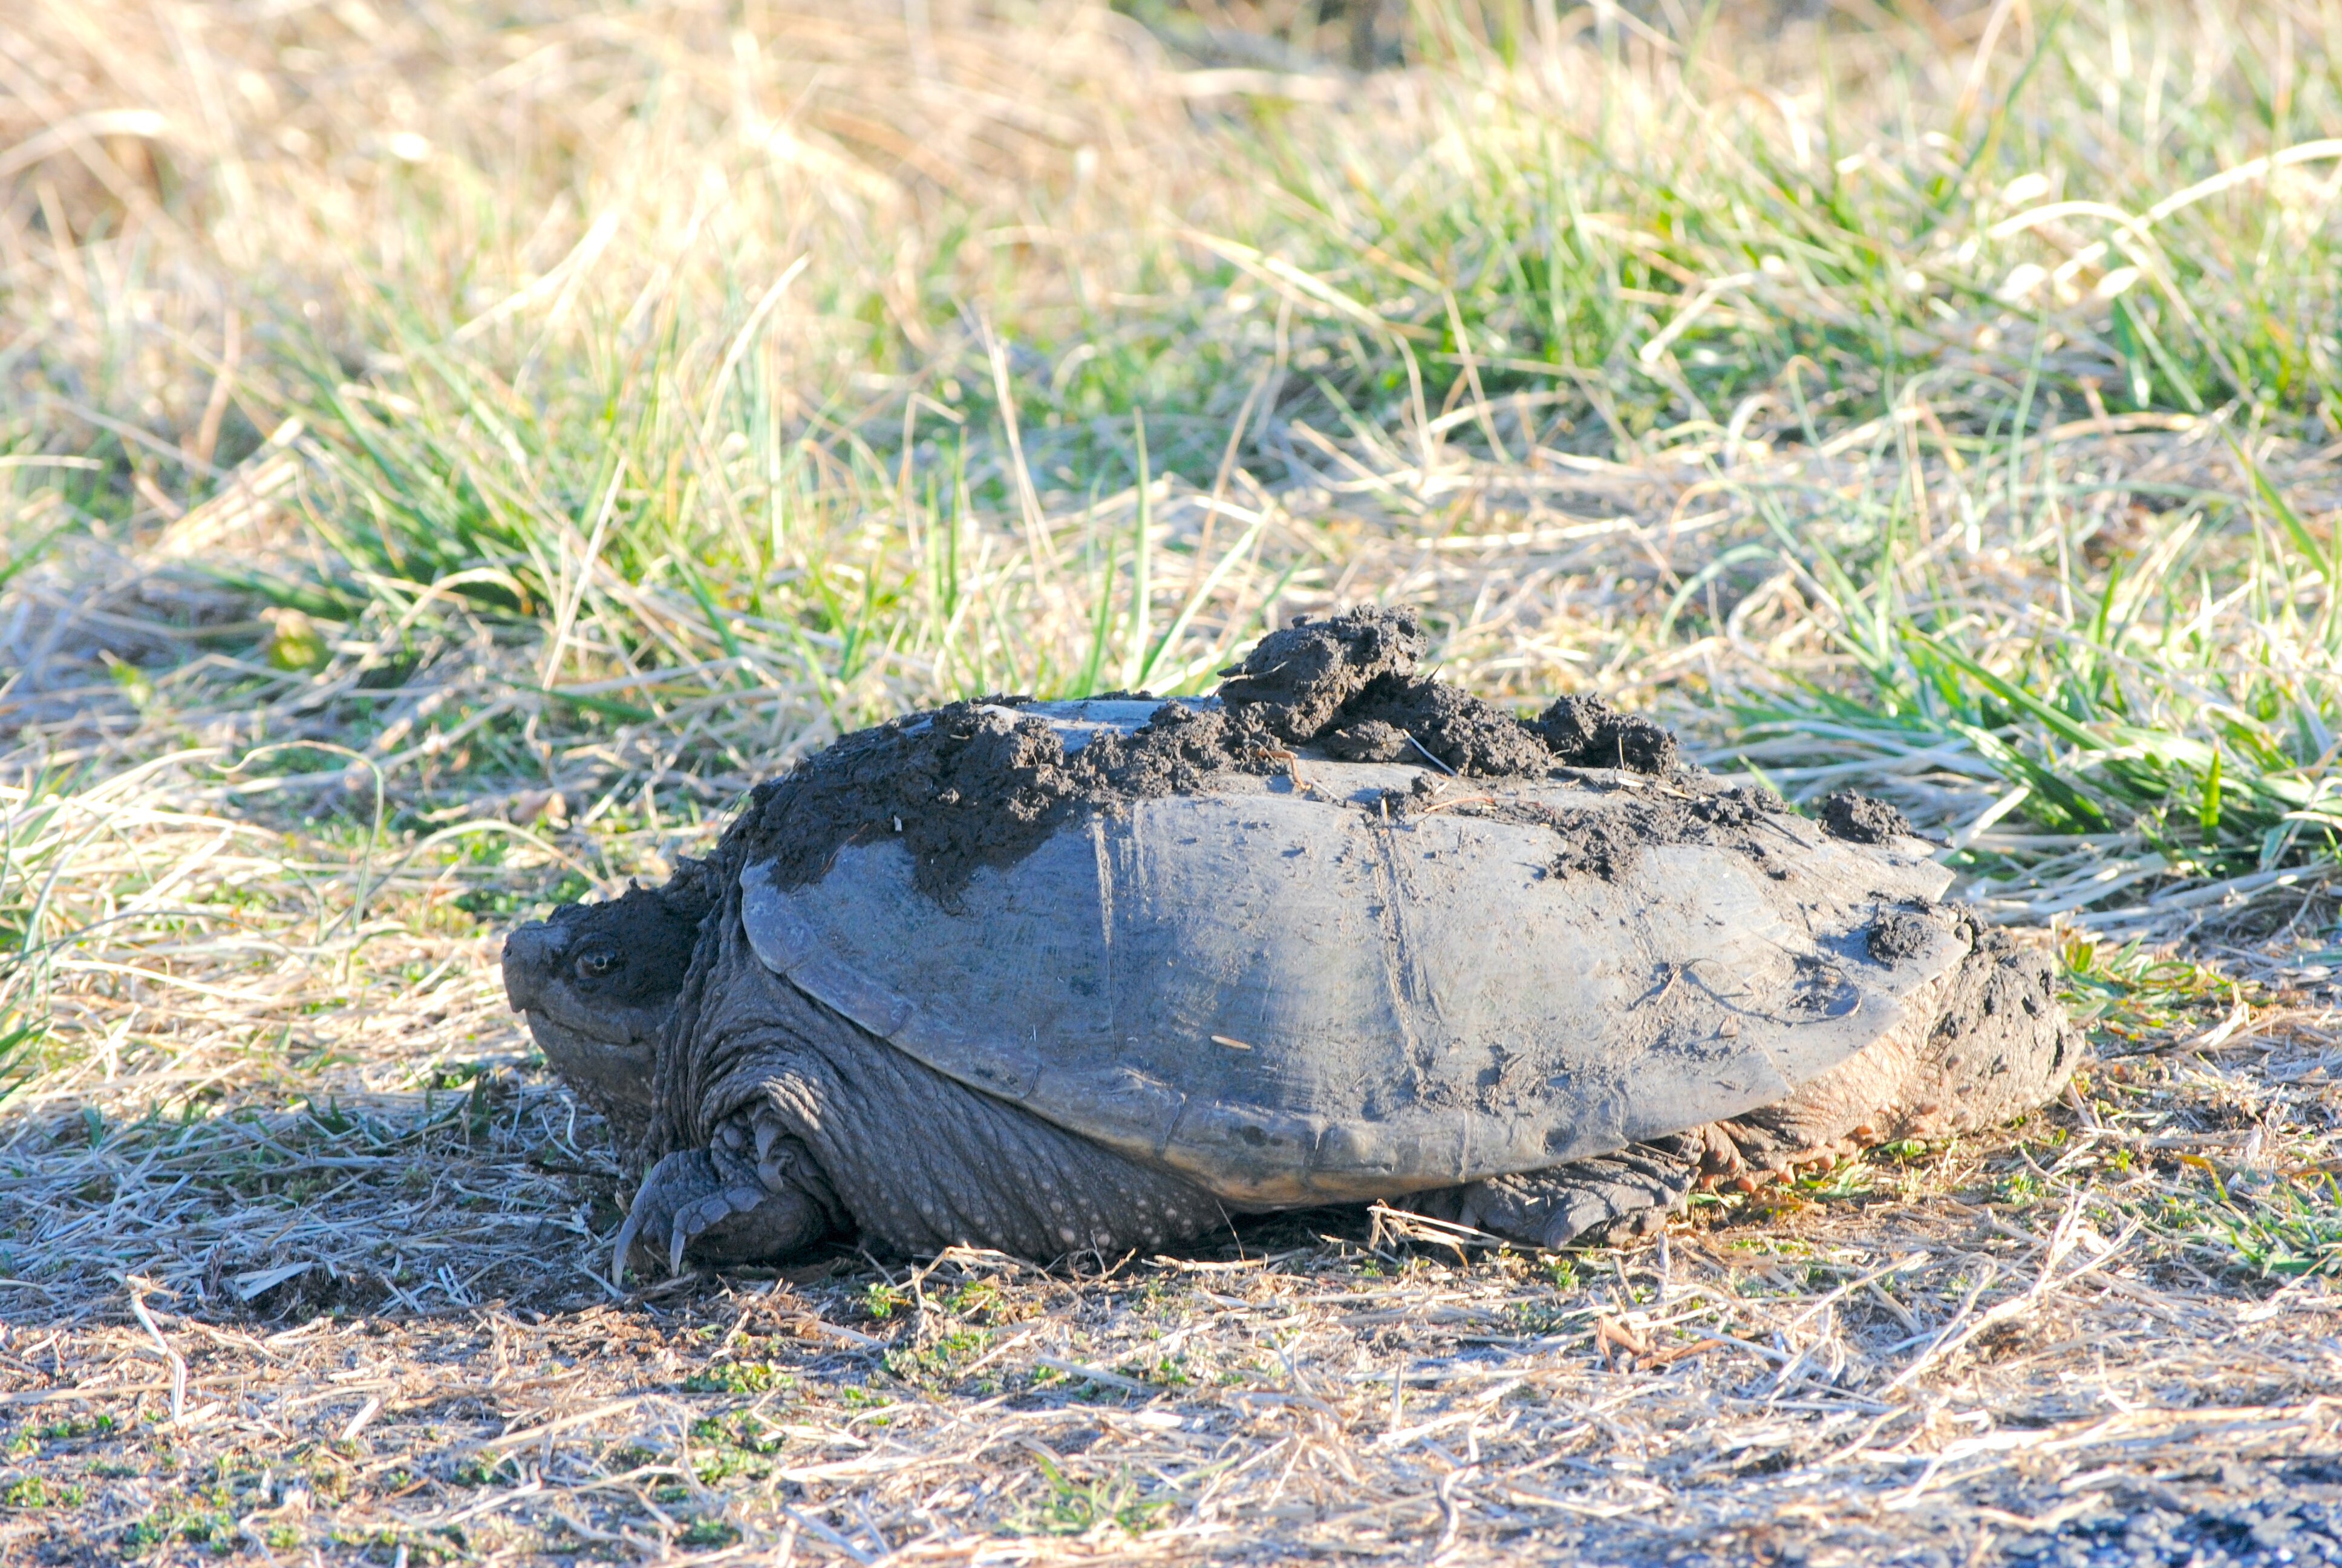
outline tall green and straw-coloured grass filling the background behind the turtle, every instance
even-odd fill
[[[201,738],[393,834],[712,813],[1379,595],[2012,914],[2314,884],[2342,21],[1923,14],[1426,0],[1358,77],[1094,5],[33,0],[21,811]]]

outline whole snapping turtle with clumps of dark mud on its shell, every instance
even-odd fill
[[[1796,816],[1588,698],[1525,724],[1422,647],[1358,609],[1218,701],[895,720],[665,888],[515,930],[513,1005],[649,1167],[621,1266],[1351,1200],[1616,1240],[2063,1085],[2047,959],[1890,806]]]

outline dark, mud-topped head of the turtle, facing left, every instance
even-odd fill
[[[651,1123],[658,1034],[691,973],[705,909],[667,891],[628,888],[562,905],[504,940],[504,996],[527,1015],[553,1071],[625,1141]]]

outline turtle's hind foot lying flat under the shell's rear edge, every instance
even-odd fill
[[[1518,1177],[1415,1193],[1401,1207],[1527,1247],[1623,1245],[1658,1233],[1698,1181],[1698,1155],[1682,1139],[1635,1144]]]

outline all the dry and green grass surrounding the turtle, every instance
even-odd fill
[[[2342,1552],[2342,246],[2251,173],[2342,23],[1911,12],[1426,7],[1351,84],[1073,5],[26,7],[0,1559]],[[1998,232],[2220,169],[2152,253]],[[1635,1254],[604,1282],[511,921],[843,727],[1356,598],[1892,792],[2052,926],[2084,1088]]]

